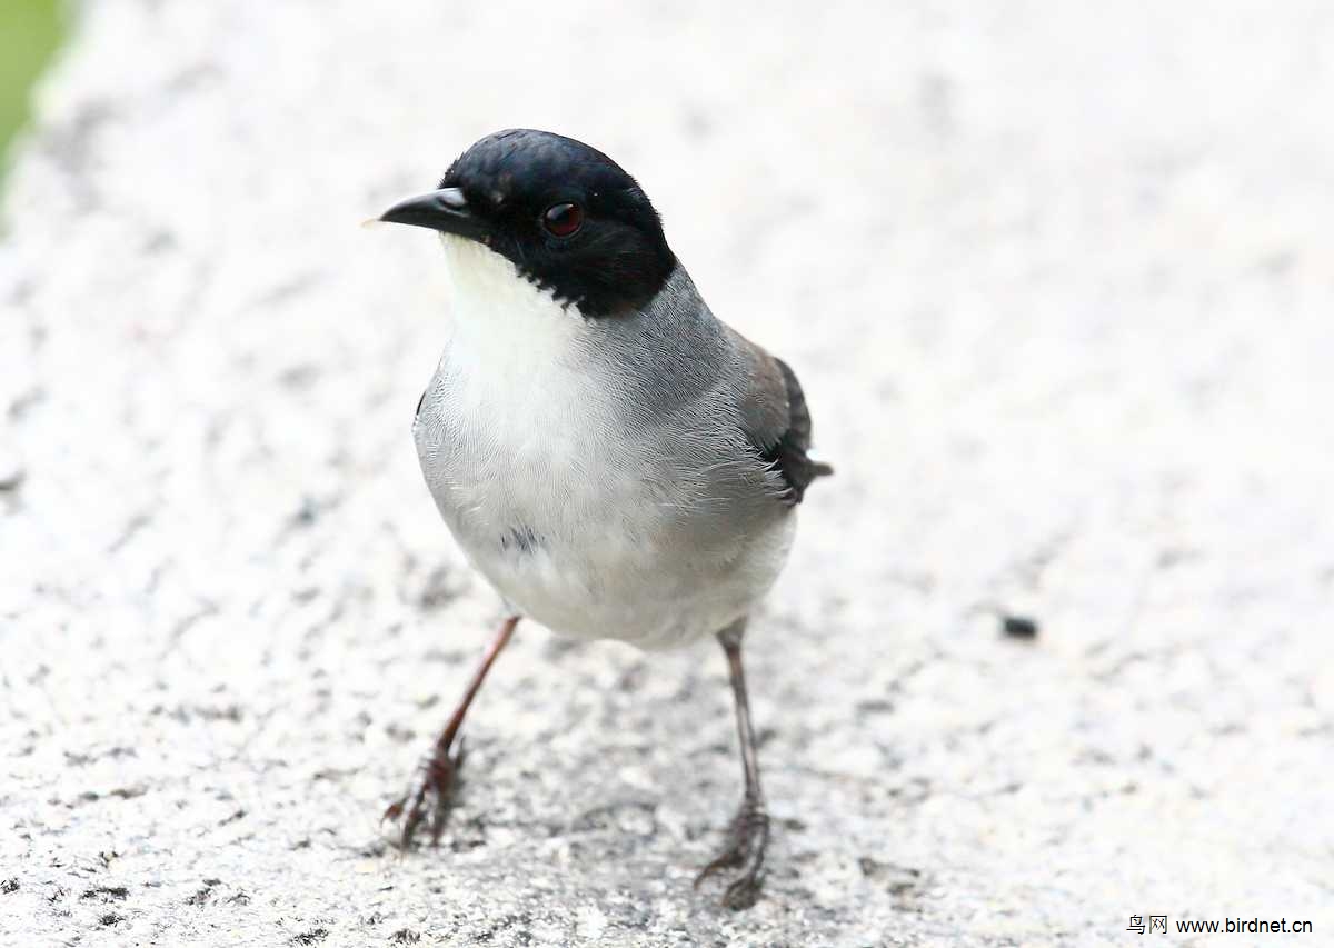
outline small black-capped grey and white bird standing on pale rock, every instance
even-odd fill
[[[522,617],[644,649],[714,635],[731,675],[746,792],[718,859],[755,903],[768,815],[742,669],[807,485],[811,417],[782,360],[710,312],[647,195],[551,132],[468,148],[380,220],[438,231],[452,331],[418,403],[422,473],[506,619],[414,781],[386,811],[439,840],[459,729]]]

